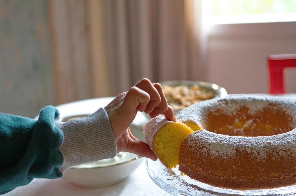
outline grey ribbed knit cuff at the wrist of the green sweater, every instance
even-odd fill
[[[71,166],[113,158],[116,155],[116,143],[104,108],[84,118],[75,118],[67,122],[55,120],[54,126],[64,133],[59,151],[64,163],[59,170],[64,173]]]

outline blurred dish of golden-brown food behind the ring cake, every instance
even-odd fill
[[[194,103],[227,95],[223,87],[202,81],[170,80],[160,84],[175,114]]]

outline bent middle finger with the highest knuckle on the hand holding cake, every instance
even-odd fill
[[[149,114],[160,103],[160,95],[157,89],[155,89],[152,85],[151,81],[146,78],[141,79],[141,81],[139,81],[135,86],[149,94],[150,101],[144,110],[145,113]]]

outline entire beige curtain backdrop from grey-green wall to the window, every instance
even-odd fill
[[[57,104],[205,80],[200,0],[48,0]],[[205,47],[203,47],[205,48]]]

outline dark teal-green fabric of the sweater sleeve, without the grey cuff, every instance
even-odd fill
[[[37,121],[0,113],[0,195],[34,178],[62,176],[63,132],[54,127],[58,117],[53,106],[43,108]]]

